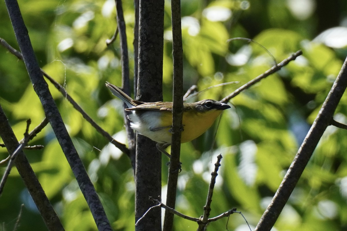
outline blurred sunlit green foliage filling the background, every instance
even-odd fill
[[[164,100],[171,101],[171,10],[170,2],[165,3],[163,88]],[[343,9],[347,2],[182,0],[181,4],[185,89],[193,84],[202,90],[223,82],[240,82],[213,88],[194,100],[221,99],[274,64],[260,46],[240,40],[227,42],[229,38],[252,38],[266,47],[277,62],[299,49],[304,53],[231,100],[234,107],[223,113],[213,148],[217,126],[195,141],[182,144],[183,171],[179,175],[176,208],[189,216],[203,213],[215,156],[222,153],[211,216],[237,207],[254,227],[347,55],[347,44],[343,43],[347,41],[346,34],[318,36],[327,29],[346,27]],[[104,85],[105,81],[121,84],[119,38],[109,47],[105,44],[117,27],[114,5],[112,0],[19,1],[41,67],[64,85],[101,127],[126,143],[121,102]],[[133,76],[133,2],[123,1],[123,7]],[[0,37],[18,49],[4,4],[0,5],[0,15]],[[332,41],[336,42],[329,47]],[[21,139],[25,120],[31,118],[34,127],[42,121],[44,112],[23,62],[5,48],[0,48],[0,60],[0,104]],[[97,133],[50,83],[49,87],[114,230],[134,230],[134,179],[128,157]],[[346,114],[344,95],[335,119],[347,123]],[[35,144],[45,148],[26,151],[27,158],[65,229],[96,230],[49,125],[30,143]],[[347,229],[346,150],[347,132],[328,127],[275,224],[276,230]],[[6,150],[0,149],[0,159],[6,157]],[[163,192],[167,161],[163,156]],[[1,171],[4,169],[1,166]],[[13,229],[20,204],[25,206],[18,230],[46,230],[18,172],[12,169],[0,198],[0,230]],[[211,223],[208,229],[225,230],[226,222],[225,218]],[[195,229],[193,222],[176,217],[175,230]],[[238,214],[230,216],[228,229],[248,230]]]

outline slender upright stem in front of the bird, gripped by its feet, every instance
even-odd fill
[[[168,189],[166,205],[175,208],[177,178],[180,169],[181,128],[183,115],[183,48],[181,31],[181,6],[180,0],[171,1],[172,21],[172,48],[174,61],[174,86],[172,107],[172,142],[171,159],[169,167]],[[174,214],[165,210],[164,231],[171,231],[174,222]]]

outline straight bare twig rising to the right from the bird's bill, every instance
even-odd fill
[[[287,59],[283,60],[282,62],[280,62],[279,64],[273,66],[272,68],[270,68],[269,70],[265,71],[264,73],[262,73],[261,75],[259,75],[258,77],[252,79],[251,81],[249,81],[248,83],[246,83],[245,85],[243,85],[242,87],[236,89],[234,92],[232,92],[230,95],[228,95],[227,97],[225,97],[224,99],[222,99],[220,102],[221,103],[228,103],[228,101],[231,98],[234,98],[235,96],[237,96],[238,94],[240,94],[240,92],[246,90],[247,88],[253,86],[255,83],[259,82],[260,80],[268,77],[270,74],[275,73],[276,71],[280,70],[283,66],[287,65],[290,61],[295,60],[299,55],[302,55],[302,51],[299,50],[297,52],[295,52],[293,55],[289,56]]]

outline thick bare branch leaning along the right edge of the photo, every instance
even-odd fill
[[[318,116],[314,120],[310,131],[308,131],[304,142],[301,144],[293,162],[291,163],[287,174],[285,175],[280,187],[268,208],[266,208],[261,220],[257,224],[256,231],[270,230],[276,222],[283,207],[288,201],[288,198],[293,192],[302,172],[304,171],[308,160],[310,160],[318,141],[323,135],[323,132],[330,125],[336,107],[344,94],[347,87],[347,58],[342,65],[341,71],[338,74],[328,97],[325,99]]]

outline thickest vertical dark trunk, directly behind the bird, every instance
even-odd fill
[[[164,1],[141,0],[139,3],[139,54],[136,99],[162,101]],[[135,170],[135,220],[152,206],[149,196],[161,195],[161,154],[155,142],[137,135]],[[151,210],[136,231],[160,231],[161,209]]]

